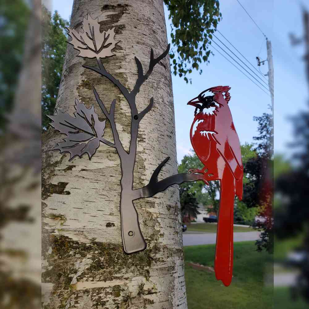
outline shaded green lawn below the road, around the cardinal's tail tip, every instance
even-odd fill
[[[254,241],[235,243],[233,279],[225,287],[214,272],[188,265],[213,267],[214,252],[215,245],[184,247],[188,309],[273,308],[273,289],[264,286],[264,269],[272,262],[268,253],[256,252]]]

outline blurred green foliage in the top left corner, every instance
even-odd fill
[[[3,114],[13,108],[18,73],[21,69],[24,40],[28,28],[30,9],[24,0],[2,0],[0,3],[0,128]]]

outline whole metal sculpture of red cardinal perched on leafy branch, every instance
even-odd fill
[[[116,149],[121,161],[121,236],[123,248],[126,253],[134,253],[146,249],[146,242],[139,226],[138,213],[133,201],[142,197],[152,197],[158,192],[165,191],[173,184],[182,184],[185,181],[203,180],[206,184],[211,180],[220,180],[221,182],[221,202],[218,223],[215,271],[217,279],[229,285],[232,277],[233,264],[233,203],[235,194],[241,199],[242,196],[242,162],[237,133],[233,125],[232,116],[227,102],[230,99],[229,87],[214,87],[209,91],[214,95],[204,97],[201,93],[197,98],[191,100],[188,104],[193,105],[195,109],[194,121],[190,131],[193,148],[205,165],[204,169],[189,169],[186,174],[176,174],[158,181],[158,175],[162,167],[167,163],[169,157],[155,169],[150,177],[149,183],[142,188],[133,189],[133,170],[137,149],[137,136],[139,123],[150,112],[154,99],[150,99],[147,107],[138,112],[135,98],[142,84],[152,73],[154,66],[167,56],[170,48],[154,57],[154,52],[150,50],[149,67],[144,74],[142,64],[137,57],[134,57],[138,78],[132,91],[129,91],[112,74],[108,73],[101,61],[101,58],[115,55],[112,49],[118,41],[114,40],[114,28],[100,32],[98,19],[92,19],[88,14],[83,18],[82,28],[78,32],[68,28],[69,36],[72,40],[68,43],[79,51],[78,57],[96,58],[98,67],[83,66],[96,72],[102,77],[108,78],[116,87],[119,88],[122,95],[129,103],[131,109],[131,140],[129,151],[126,151],[121,143],[115,123],[116,100],[112,101],[108,111],[99,94],[92,86],[94,97],[102,110],[102,113],[109,121],[113,134],[113,141],[103,138],[105,131],[105,122],[99,121],[93,106],[87,108],[78,99],[75,99],[74,116],[61,112],[56,109],[54,115],[48,116],[53,122],[52,127],[66,134],[62,142],[58,142],[53,150],[60,150],[60,153],[69,153],[70,159],[76,156],[82,157],[87,154],[89,159],[95,154],[100,143],[104,143]],[[205,91],[204,91],[205,92]],[[223,97],[225,93],[225,99]],[[203,113],[205,108],[214,107],[214,115],[210,116]],[[198,111],[199,110],[199,111]],[[198,112],[197,112],[198,111]],[[198,123],[197,130],[193,132],[193,125]],[[210,132],[210,133],[209,133]],[[207,134],[208,135],[207,135]]]

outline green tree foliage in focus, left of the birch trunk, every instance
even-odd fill
[[[54,113],[66,53],[66,26],[57,11],[53,15],[42,6],[42,128]]]

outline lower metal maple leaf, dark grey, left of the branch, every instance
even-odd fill
[[[50,125],[67,137],[64,142],[57,143],[53,150],[60,150],[60,153],[70,153],[70,160],[74,157],[81,157],[85,153],[89,159],[95,154],[99,148],[100,141],[105,141],[102,138],[105,129],[105,120],[99,121],[98,115],[94,111],[93,105],[91,108],[86,108],[83,103],[79,103],[75,99],[74,116],[70,116],[66,112],[60,112],[56,108],[56,115],[47,116],[53,120]]]

